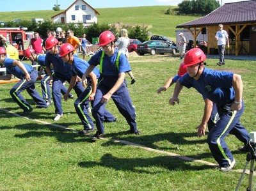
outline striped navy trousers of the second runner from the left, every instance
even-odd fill
[[[50,102],[51,88],[50,88],[49,82],[50,82],[50,77],[49,75],[46,74],[41,80],[41,88],[42,88],[43,99]],[[67,93],[67,88],[63,85],[60,91],[62,95],[65,95],[65,93]],[[72,96],[71,93],[69,93],[69,96]]]

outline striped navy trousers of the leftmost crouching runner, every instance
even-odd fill
[[[10,95],[12,96],[13,100],[18,103],[19,107],[24,111],[28,111],[29,109],[31,109],[31,105],[29,105],[25,98],[20,94],[25,89],[37,105],[45,108],[47,107],[47,103],[45,102],[45,100],[43,100],[43,98],[35,90],[35,82],[37,80],[37,77],[37,72],[34,69],[30,73],[30,81],[26,80],[24,77],[24,79],[19,80],[19,82],[17,82],[17,84],[15,84],[12,89],[10,89]]]

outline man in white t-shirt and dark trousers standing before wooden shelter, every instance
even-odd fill
[[[217,31],[215,35],[216,40],[218,41],[218,51],[220,55],[220,62],[217,63],[217,65],[225,65],[225,59],[224,59],[224,52],[226,44],[229,48],[229,40],[228,40],[228,33],[227,31],[223,30],[223,25],[219,24],[219,31]]]

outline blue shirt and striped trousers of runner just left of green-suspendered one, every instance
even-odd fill
[[[78,75],[82,79],[83,74],[86,71],[86,69],[88,68],[88,66],[89,66],[89,64],[86,61],[84,61],[83,59],[74,57],[74,60],[72,62],[72,66],[71,66],[72,75]],[[92,72],[97,76],[97,79],[98,79],[99,75],[100,75],[99,69],[94,68]],[[76,102],[74,103],[76,112],[83,123],[84,130],[90,130],[90,129],[94,128],[92,118],[88,114],[88,111],[86,111],[86,107],[89,104],[88,98],[89,98],[89,95],[92,90],[92,86],[91,86],[92,82],[91,82],[90,77],[87,77],[87,82],[88,82],[88,86],[83,91],[83,93],[81,93],[81,95],[77,98]],[[113,122],[115,120],[116,120],[115,117],[110,112],[105,110],[104,121]]]

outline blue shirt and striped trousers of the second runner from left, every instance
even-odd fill
[[[45,54],[37,54],[36,63],[38,63],[42,68],[45,69],[46,66],[44,61],[45,61]],[[52,75],[54,75],[53,72],[54,71],[52,70]],[[49,82],[50,82],[50,77],[46,73],[41,80],[41,88],[42,88],[43,99],[47,102],[51,102],[51,88],[50,88]],[[65,93],[67,93],[67,88],[63,85],[63,87],[61,88],[61,94],[65,95]],[[70,94],[69,96],[72,96],[72,95]]]

